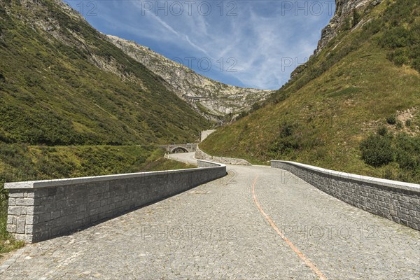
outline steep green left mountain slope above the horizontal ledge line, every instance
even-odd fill
[[[209,122],[61,1],[2,1],[0,141],[193,142]]]

